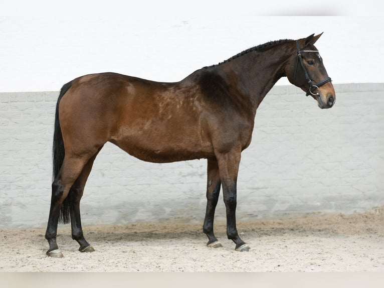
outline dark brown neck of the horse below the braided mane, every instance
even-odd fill
[[[232,60],[225,68],[228,75],[236,75],[237,90],[250,100],[253,114],[275,83],[285,76],[284,68],[292,52],[281,47],[279,52],[273,49],[250,52]]]

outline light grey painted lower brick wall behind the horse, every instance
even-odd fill
[[[294,86],[260,105],[238,178],[239,221],[384,205],[384,84],[336,84],[321,110]],[[0,227],[45,226],[58,92],[0,93]],[[84,224],[202,223],[206,160],[141,162],[107,143],[82,199]],[[224,203],[216,219],[225,219]]]

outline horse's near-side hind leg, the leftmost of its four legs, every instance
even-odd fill
[[[72,185],[83,171],[84,166],[95,153],[96,151],[82,156],[66,155],[60,172],[52,183],[51,208],[45,234],[45,238],[49,243],[48,256],[63,257],[56,242],[60,208],[64,199],[67,198]],[[63,216],[65,217],[65,215]]]

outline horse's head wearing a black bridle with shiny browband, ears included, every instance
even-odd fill
[[[307,96],[311,95],[324,109],[334,105],[336,96],[323,59],[314,46],[321,34],[296,41],[295,53],[287,62],[285,71],[289,82],[300,87]]]

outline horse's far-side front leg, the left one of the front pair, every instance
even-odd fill
[[[207,210],[204,219],[203,232],[208,236],[207,246],[218,248],[222,247],[222,244],[214,234],[214,217],[216,205],[219,200],[221,180],[216,159],[208,159],[207,174]]]

